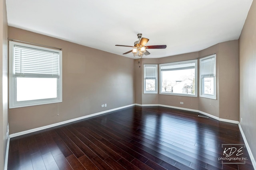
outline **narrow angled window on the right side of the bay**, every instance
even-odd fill
[[[216,99],[216,54],[200,59],[200,97]]]

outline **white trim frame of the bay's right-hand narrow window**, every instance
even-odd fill
[[[214,57],[214,63],[215,63],[215,64],[214,64],[214,75],[215,75],[215,76],[213,77],[213,78],[214,78],[214,94],[213,94],[213,95],[211,95],[211,94],[203,94],[203,85],[202,85],[202,83],[203,83],[202,79],[203,79],[203,78],[201,77],[202,60],[209,59],[209,58],[212,58],[212,57]],[[208,57],[201,58],[201,59],[199,60],[199,62],[200,62],[200,66],[199,66],[200,97],[216,100],[216,99],[217,99],[217,97],[216,97],[216,54],[210,55],[210,56],[208,56]]]

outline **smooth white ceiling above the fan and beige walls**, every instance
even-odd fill
[[[8,25],[122,55],[150,39],[144,58],[238,39],[252,0],[6,0]],[[12,37],[10,37],[12,38]],[[61,47],[60,47],[61,48]],[[132,53],[123,55],[134,58]],[[138,57],[136,57],[138,58]]]

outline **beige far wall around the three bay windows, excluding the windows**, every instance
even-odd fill
[[[198,97],[173,96],[164,94],[144,94],[143,93],[143,64],[162,64],[177,61],[192,60],[216,53],[216,90],[217,100],[199,97],[199,78],[198,78]],[[238,40],[218,43],[199,52],[163,57],[159,59],[141,60],[141,69],[135,68],[136,89],[135,101],[138,104],[162,104],[174,107],[183,107],[186,109],[195,109],[203,111],[210,115],[239,120],[239,64],[238,64]],[[138,64],[136,62],[136,64]],[[198,61],[199,64],[199,61]],[[228,64],[228,66],[227,66]],[[136,66],[137,67],[137,66]],[[158,72],[159,73],[159,72]],[[158,74],[158,87],[159,87]],[[199,65],[198,65],[199,76]],[[159,88],[158,88],[159,90]],[[180,104],[183,102],[184,104]]]

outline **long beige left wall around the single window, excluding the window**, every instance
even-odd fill
[[[14,27],[8,37],[62,48],[63,75],[63,102],[9,109],[10,134],[134,104],[133,59]]]

